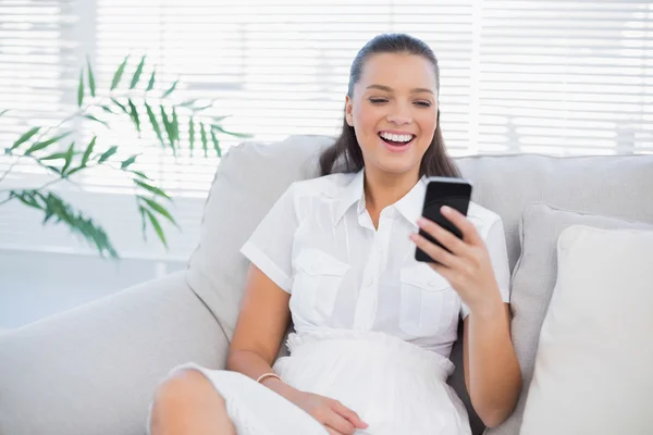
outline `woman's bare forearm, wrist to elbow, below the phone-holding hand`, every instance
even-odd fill
[[[494,427],[515,409],[521,371],[510,340],[510,310],[501,299],[464,322],[465,385],[483,423]]]

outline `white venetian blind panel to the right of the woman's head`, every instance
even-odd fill
[[[653,152],[653,2],[482,2],[479,149]]]

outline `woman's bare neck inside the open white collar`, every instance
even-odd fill
[[[419,181],[419,167],[401,174],[365,170],[365,198],[368,212],[377,226],[381,210],[402,199]]]

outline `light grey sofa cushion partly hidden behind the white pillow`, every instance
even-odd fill
[[[653,220],[650,220],[653,223]],[[510,309],[515,351],[522,372],[522,389],[515,412],[492,435],[519,433],[523,406],[533,374],[540,328],[557,276],[556,245],[560,233],[570,225],[599,228],[642,228],[653,226],[601,215],[554,209],[535,203],[526,208],[521,221],[521,257],[513,273]]]

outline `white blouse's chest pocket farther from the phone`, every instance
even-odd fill
[[[295,307],[325,319],[333,314],[335,299],[349,265],[318,249],[306,249],[295,260]]]

